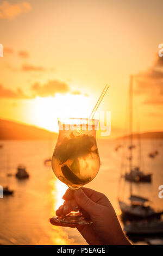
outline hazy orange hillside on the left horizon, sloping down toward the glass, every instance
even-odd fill
[[[0,139],[56,139],[58,133],[0,119]]]

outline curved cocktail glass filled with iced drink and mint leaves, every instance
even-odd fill
[[[52,156],[57,178],[72,191],[89,183],[98,173],[100,160],[96,143],[97,119],[58,118],[59,136]],[[70,214],[56,217],[58,222],[90,224],[78,206]]]

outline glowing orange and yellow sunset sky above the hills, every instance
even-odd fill
[[[111,111],[122,135],[134,74],[134,131],[163,130],[163,1],[0,0],[0,118],[57,131],[57,117]],[[97,113],[98,115],[98,113]]]

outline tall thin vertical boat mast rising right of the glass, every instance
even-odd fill
[[[130,75],[129,83],[129,133],[130,133],[130,156],[129,168],[133,170],[133,75]],[[133,184],[130,182],[130,197],[133,194]]]

